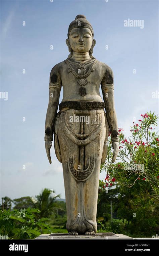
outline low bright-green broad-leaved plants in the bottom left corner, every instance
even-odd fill
[[[50,229],[47,218],[37,219],[39,209],[0,210],[0,234],[9,239],[34,239],[43,233],[43,228]]]

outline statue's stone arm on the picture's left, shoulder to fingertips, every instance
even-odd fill
[[[50,148],[53,140],[55,118],[58,110],[61,91],[61,78],[57,65],[51,70],[49,83],[49,104],[45,120],[45,148],[49,163],[51,164]]]

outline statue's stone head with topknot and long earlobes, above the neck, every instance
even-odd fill
[[[73,51],[89,52],[90,57],[94,58],[92,53],[96,40],[93,39],[92,25],[84,15],[79,14],[75,17],[75,20],[69,25],[67,36],[66,44],[70,52],[68,58],[71,58]]]

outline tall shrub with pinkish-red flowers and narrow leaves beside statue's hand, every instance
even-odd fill
[[[109,180],[100,181],[100,188],[116,184],[124,192],[140,180],[146,183],[143,187],[151,187],[156,197],[159,196],[159,138],[152,127],[157,120],[154,113],[143,115],[140,124],[131,127],[129,141],[119,129],[117,163],[111,163],[113,150],[110,142],[107,161],[101,166],[101,171],[109,173]]]

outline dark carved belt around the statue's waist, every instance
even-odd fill
[[[63,108],[77,110],[104,109],[105,103],[103,101],[63,101],[59,104],[59,110],[61,111]]]

